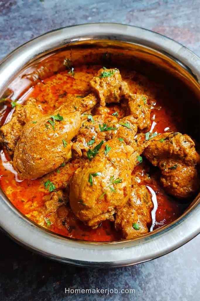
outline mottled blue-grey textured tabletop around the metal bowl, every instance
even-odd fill
[[[46,31],[87,22],[141,26],[169,36],[200,55],[200,1],[0,1],[0,58]],[[199,301],[200,237],[137,266],[76,268],[34,255],[0,234],[0,300]],[[64,288],[125,288],[135,294],[65,294]]]

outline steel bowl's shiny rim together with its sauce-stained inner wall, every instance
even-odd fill
[[[192,95],[188,103],[190,107],[193,104],[193,109],[186,118],[189,134],[193,134],[189,120],[195,118],[199,125],[200,113],[199,57],[171,39],[133,26],[85,24],[58,29],[31,40],[2,61],[1,96],[12,89],[15,92],[13,97],[19,98],[34,85],[34,77],[27,78],[27,73],[33,74],[39,64],[45,65],[52,58],[64,57],[67,52],[73,54],[75,64],[83,59],[94,63],[97,57],[85,56],[88,52],[92,53],[94,48],[98,49],[100,55],[112,52],[114,61],[115,54],[121,53],[123,58],[120,62],[116,61],[118,66],[133,61],[136,68],[142,66],[141,71],[147,76],[151,76],[154,70],[162,81],[169,79],[178,82],[181,88]],[[199,140],[199,129],[195,135]],[[175,222],[142,237],[88,242],[62,237],[34,224],[10,203],[1,190],[0,226],[19,244],[61,262],[90,267],[131,265],[169,253],[199,234],[199,200],[198,195]]]

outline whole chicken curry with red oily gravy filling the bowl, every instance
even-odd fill
[[[91,241],[132,239],[181,216],[199,190],[200,156],[175,95],[134,68],[62,65],[22,101],[1,100],[9,200],[38,225]]]

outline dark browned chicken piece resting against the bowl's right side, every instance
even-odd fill
[[[200,156],[190,136],[177,132],[161,134],[150,140],[144,155],[160,168],[160,181],[169,194],[184,199],[199,189]]]

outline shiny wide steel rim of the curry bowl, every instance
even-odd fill
[[[116,26],[118,28],[116,28]],[[33,46],[32,44],[35,44],[35,42],[37,42],[36,44],[38,44],[38,42],[41,44],[41,37],[51,39],[51,35],[53,35],[54,33],[61,33],[62,31],[67,33],[68,29],[76,29],[75,31],[77,32],[78,38],[82,37],[84,39],[84,37],[87,37],[88,39],[88,36],[92,32],[91,27],[95,27],[96,29],[96,32],[93,29],[94,39],[95,37],[98,38],[100,34],[102,34],[102,30],[104,30],[106,31],[106,33],[104,33],[105,39],[110,38],[110,35],[111,37],[121,36],[121,39],[123,41],[125,40],[126,42],[131,43],[131,41],[126,40],[127,35],[123,35],[122,33],[122,29],[126,29],[126,31],[128,31],[129,33],[128,37],[131,37],[132,40],[136,39],[136,44],[138,44],[140,34],[143,40],[145,39],[145,34],[148,34],[150,38],[148,37],[148,39],[146,39],[147,43],[145,46],[148,47],[150,42],[154,41],[154,43],[152,43],[157,43],[157,47],[155,48],[154,45],[153,49],[156,49],[160,52],[165,51],[169,55],[175,57],[175,59],[180,62],[180,64],[184,62],[184,64],[193,71],[196,79],[199,80],[200,78],[200,69],[198,69],[198,67],[200,67],[200,58],[193,54],[193,52],[191,52],[189,49],[172,39],[136,26],[118,23],[88,23],[52,30],[32,39],[29,42],[26,42],[25,44],[10,52],[10,54],[8,54],[0,64],[0,91],[9,82],[8,78],[2,77],[2,75],[5,76],[3,71],[9,66],[9,64],[12,64],[13,61],[16,60],[17,55],[19,56],[20,51],[25,51],[26,53],[28,49],[31,52],[31,48]],[[130,33],[130,31],[133,31],[134,33]],[[159,44],[159,38],[157,39],[157,37],[160,37],[160,39],[162,37],[162,45],[161,41]],[[71,39],[73,39],[73,37]],[[76,39],[73,39],[72,42],[74,41],[76,41]],[[67,43],[69,42],[70,41],[67,40]],[[66,41],[64,43],[66,43]],[[172,46],[174,46],[175,48],[173,51]],[[24,48],[26,49],[24,50]],[[47,49],[44,49],[44,51],[47,51]],[[26,59],[30,61],[31,59],[34,59],[34,57],[31,58],[30,55],[26,57]],[[20,64],[18,62],[18,69],[23,67],[24,65],[24,63],[22,62]],[[15,70],[13,71],[13,74],[16,74],[16,72],[17,68],[15,68]],[[2,82],[4,86],[2,85]],[[198,203],[195,208],[193,208],[184,217],[178,219],[178,221],[173,223],[173,225],[169,225],[168,227],[159,231],[159,234],[155,232],[151,235],[151,237],[149,235],[142,237],[140,240],[138,240],[139,243],[136,243],[136,241],[125,241],[121,244],[116,245],[98,245],[95,243],[83,244],[81,242],[70,241],[67,238],[64,239],[62,237],[57,237],[56,235],[49,233],[48,231],[40,229],[38,226],[34,225],[34,223],[27,222],[23,215],[19,213],[12,204],[10,204],[10,201],[7,199],[7,197],[5,197],[2,191],[0,195],[0,227],[4,232],[6,232],[13,240],[16,240],[19,244],[22,244],[26,248],[33,250],[40,255],[55,259],[57,261],[79,266],[116,267],[148,261],[177,249],[200,233],[200,203]],[[10,215],[10,217],[12,217],[12,224],[8,222],[8,219],[6,218],[7,215]],[[189,230],[188,227],[190,228]],[[186,232],[187,234],[185,234]],[[183,235],[183,238],[181,235]],[[32,240],[30,238],[32,238]],[[46,244],[43,244],[44,242]],[[62,252],[60,250],[59,252],[56,250],[58,246],[62,248]],[[153,251],[151,250],[152,247],[154,247]],[[135,256],[132,255],[134,252],[136,253],[134,254]],[[139,256],[137,252],[140,252]]]

